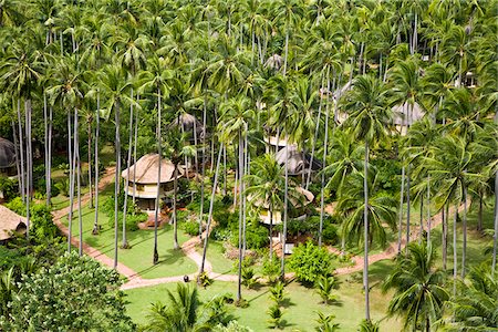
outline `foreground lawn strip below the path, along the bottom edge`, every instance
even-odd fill
[[[127,304],[128,314],[136,323],[143,324],[146,321],[147,309],[156,301],[167,301],[166,290],[175,290],[176,284],[160,284],[152,288],[141,288],[128,290]],[[317,311],[333,313],[336,322],[341,324],[341,331],[355,331],[364,315],[363,293],[361,283],[343,282],[336,291],[340,297],[339,305],[324,305],[320,303],[320,297],[312,289],[307,289],[298,282],[290,283],[287,288],[290,301],[284,309],[283,319],[287,322],[284,331],[312,331],[315,324]],[[201,300],[206,301],[216,294],[237,292],[235,282],[215,281],[207,289],[199,289]],[[267,331],[267,310],[272,304],[268,295],[267,287],[258,291],[242,289],[242,297],[249,301],[249,307],[240,309],[230,305],[234,317],[243,325],[252,328],[255,331]],[[387,305],[387,295],[383,295],[378,290],[371,292],[372,318],[380,320],[384,317]],[[384,320],[382,322],[384,331],[401,331],[401,325],[396,320]]]

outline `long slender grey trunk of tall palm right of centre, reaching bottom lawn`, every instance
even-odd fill
[[[369,141],[365,139],[365,158],[364,158],[364,176],[363,176],[363,191],[365,198],[365,206],[363,211],[364,219],[364,255],[363,255],[363,287],[365,291],[365,320],[370,321],[370,287],[369,287]]]

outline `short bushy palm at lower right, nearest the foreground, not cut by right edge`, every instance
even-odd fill
[[[436,269],[430,243],[409,243],[408,255],[401,257],[382,289],[394,289],[387,312],[401,315],[404,329],[430,331],[443,317],[443,305],[449,299],[445,272]]]

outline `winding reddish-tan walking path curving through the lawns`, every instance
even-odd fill
[[[107,167],[105,169],[104,176],[98,181],[98,190],[103,190],[107,185],[110,185],[113,181],[114,176],[115,176],[115,167]],[[89,201],[90,201],[90,193],[85,194],[82,197],[81,204],[83,206],[83,205],[87,204]],[[333,207],[331,207],[331,209]],[[77,201],[74,201],[73,203],[73,211],[76,209],[77,209]],[[459,210],[460,209],[463,209],[463,207],[460,207]],[[61,232],[66,237],[69,237],[69,229],[64,224],[62,224],[62,218],[68,216],[69,211],[70,211],[70,207],[65,207],[63,209],[52,211],[54,224],[59,227]],[[437,227],[442,222],[440,215],[434,216],[432,218],[432,222],[433,222],[432,224],[433,228]],[[413,227],[413,231],[411,232],[411,241],[416,240],[418,234],[419,234],[419,227],[418,226]],[[205,231],[203,234],[203,238],[205,238],[205,236],[207,236],[207,231]],[[71,238],[71,243],[74,247],[79,247],[79,245],[80,245],[79,238],[73,236]],[[199,245],[201,245],[201,243],[200,243],[200,239],[198,237],[191,238],[181,245],[181,251],[185,253],[186,257],[191,259],[197,264],[197,268],[200,270],[200,264],[203,262],[203,256],[196,251],[196,247]],[[404,248],[405,245],[406,245],[406,240],[404,239],[402,241],[402,248]],[[112,258],[107,257],[105,253],[103,253],[98,249],[95,249],[84,242],[82,245],[82,248],[83,248],[83,251],[87,256],[98,260],[101,263],[103,263],[110,268],[114,268],[114,260]],[[339,249],[333,248],[333,247],[330,247],[329,250],[336,255],[341,253],[341,251]],[[369,264],[372,264],[380,260],[391,259],[391,258],[395,257],[396,255],[397,255],[397,242],[395,241],[395,242],[392,242],[387,247],[387,249],[384,250],[383,252],[369,256]],[[353,266],[336,269],[334,274],[341,276],[341,274],[347,274],[347,273],[363,270],[363,257],[362,256],[353,257],[352,261],[354,262]],[[127,281],[121,287],[122,290],[157,286],[157,284],[162,284],[162,283],[169,283],[169,282],[180,282],[180,281],[184,281],[184,278],[185,278],[185,276],[174,276],[174,277],[166,277],[166,278],[144,279],[138,274],[138,272],[134,271],[132,268],[129,268],[121,262],[117,262],[116,270],[123,277],[125,277],[127,279]],[[204,270],[208,273],[209,278],[211,278],[214,280],[219,280],[219,281],[237,281],[238,280],[238,276],[236,276],[236,274],[221,274],[221,273],[214,272],[212,266],[208,260],[205,260]],[[195,280],[196,276],[197,276],[196,273],[193,273],[193,274],[189,274],[188,278],[190,280]],[[291,279],[293,277],[294,277],[293,272],[286,273],[286,278],[288,278],[288,279]]]

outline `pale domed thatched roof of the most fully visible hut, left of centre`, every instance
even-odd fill
[[[158,173],[158,166],[159,166],[159,158],[158,154],[148,154],[143,156],[136,162],[136,176],[134,177],[134,169],[135,165],[132,165],[129,167],[129,180],[135,181],[137,184],[144,184],[144,185],[153,185],[157,184],[157,173]],[[168,183],[174,179],[174,170],[175,165],[168,159],[163,158],[160,160],[160,183]],[[126,178],[128,173],[128,169],[126,168],[121,173],[121,176]],[[178,176],[183,175],[183,170],[180,167],[178,167]]]

